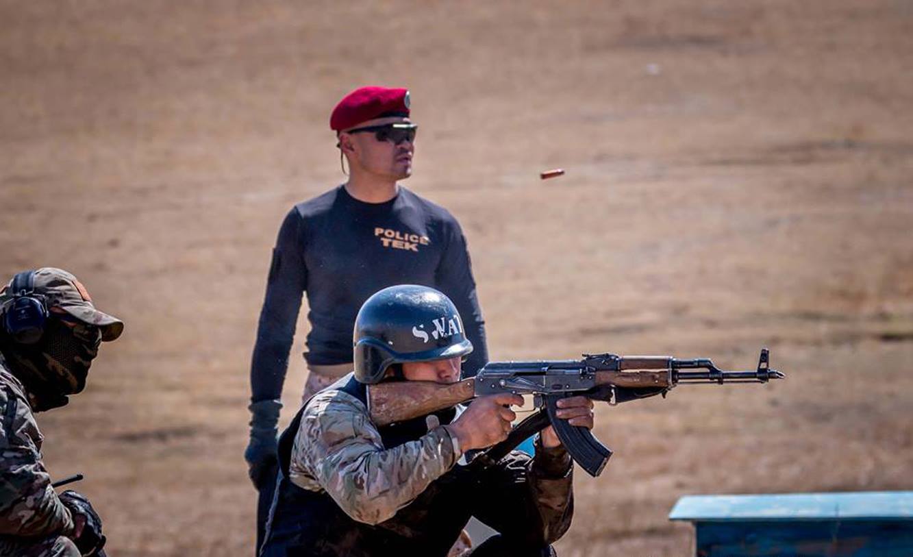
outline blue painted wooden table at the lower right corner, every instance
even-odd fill
[[[671,520],[691,520],[698,557],[908,557],[913,491],[691,496]]]

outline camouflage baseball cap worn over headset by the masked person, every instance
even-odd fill
[[[10,284],[2,293],[7,294]],[[123,332],[123,321],[95,309],[89,291],[71,273],[53,267],[35,271],[35,293],[44,297],[47,310],[63,310],[87,325],[96,325],[102,341],[113,341]]]

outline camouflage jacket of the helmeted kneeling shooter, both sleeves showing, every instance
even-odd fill
[[[289,479],[302,489],[326,491],[353,520],[379,524],[454,468],[460,456],[444,426],[415,441],[384,447],[362,401],[331,387],[312,397],[302,411]],[[524,458],[522,471],[498,481],[529,482],[524,493],[532,494],[542,535],[557,540],[571,522],[571,458],[561,447],[541,449],[531,462]]]

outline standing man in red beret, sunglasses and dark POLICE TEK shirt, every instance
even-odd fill
[[[257,547],[275,488],[282,384],[302,294],[310,308],[305,400],[352,372],[355,315],[374,292],[395,284],[429,286],[454,301],[476,347],[463,364],[466,376],[488,361],[485,322],[459,224],[443,207],[398,184],[412,175],[415,154],[409,91],[355,89],[332,111],[330,127],[349,179],[289,211],[273,249],[257,329],[245,451],[260,493]]]

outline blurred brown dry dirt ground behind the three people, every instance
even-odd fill
[[[685,555],[687,494],[913,489],[911,54],[902,0],[0,2],[0,275],[68,268],[127,323],[39,416],[47,464],[112,556],[252,552],[269,250],[344,179],[332,105],[384,84],[492,359],[789,375],[601,407],[561,555]],[[285,421],[302,383],[295,356]]]

